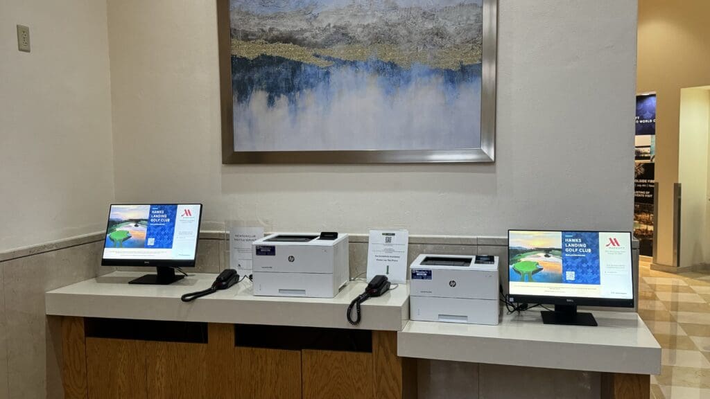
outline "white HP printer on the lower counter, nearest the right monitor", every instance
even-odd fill
[[[410,266],[410,318],[498,324],[498,256],[417,256]]]

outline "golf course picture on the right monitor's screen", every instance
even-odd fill
[[[510,281],[562,283],[562,236],[559,231],[510,233]]]

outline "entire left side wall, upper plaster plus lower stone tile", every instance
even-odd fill
[[[17,24],[30,27],[31,53],[17,50]],[[93,277],[101,243],[11,253],[105,226],[114,197],[106,2],[2,0],[0,54],[0,398],[62,398],[44,293]]]

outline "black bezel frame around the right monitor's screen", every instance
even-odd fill
[[[590,297],[555,297],[551,295],[514,295],[510,294],[510,231],[550,231],[562,232],[572,231],[579,233],[618,233],[628,234],[629,243],[631,245],[629,251],[629,261],[631,265],[631,298],[616,299],[616,298],[590,298]],[[516,303],[540,303],[542,305],[575,305],[575,306],[599,306],[599,307],[634,307],[636,298],[636,279],[633,275],[633,234],[630,231],[615,231],[615,230],[549,230],[549,229],[508,229],[508,260],[506,264],[506,275],[508,278],[508,297],[510,301]]]

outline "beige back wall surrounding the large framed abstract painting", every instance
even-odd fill
[[[109,0],[116,200],[276,231],[632,228],[635,1],[500,2],[494,165],[222,165],[215,12]]]

